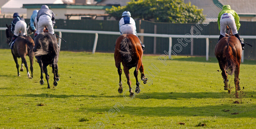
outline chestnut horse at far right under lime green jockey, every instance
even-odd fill
[[[242,46],[238,38],[232,35],[231,28],[227,26],[228,34],[226,37],[220,39],[215,46],[215,56],[219,61],[219,68],[222,71],[222,77],[224,79],[224,90],[229,90],[227,73],[232,75],[235,73],[235,86],[236,86],[236,98],[238,98],[239,86],[239,71],[242,56]]]

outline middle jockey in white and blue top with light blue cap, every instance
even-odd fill
[[[129,11],[124,11],[122,14],[122,18],[119,21],[119,31],[121,35],[123,34],[133,34],[136,35],[136,25],[133,18],[131,18],[131,13]],[[136,35],[137,36],[137,35]],[[137,36],[138,37],[138,36]],[[142,49],[145,47],[143,43],[141,43]]]

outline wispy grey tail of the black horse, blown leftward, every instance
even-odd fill
[[[34,55],[35,56],[47,55],[49,53],[49,42],[51,41],[51,38],[49,37],[49,35],[43,35],[41,38],[37,38],[37,39],[38,39],[37,42],[40,47],[37,48],[37,51],[34,52]]]

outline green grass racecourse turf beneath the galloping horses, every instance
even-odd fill
[[[205,61],[205,57],[175,56],[165,66],[159,56],[144,55],[145,73],[152,63],[160,72],[150,76],[152,84],[142,84],[141,92],[128,101],[117,92],[119,75],[113,53],[61,51],[60,81],[53,87],[53,74],[48,73],[51,89],[47,89],[47,84],[39,84],[38,63],[34,63],[33,79],[24,71],[17,77],[11,51],[1,49],[0,128],[97,128],[96,124],[105,128],[255,127],[256,61],[241,64],[241,92],[236,99],[234,88],[231,94],[223,90],[215,57]],[[135,85],[133,71],[130,76]],[[125,91],[124,73],[122,81]],[[231,86],[233,82],[229,76]],[[124,107],[117,106],[120,112],[113,107],[116,103]],[[111,109],[116,111],[115,117],[108,115]]]

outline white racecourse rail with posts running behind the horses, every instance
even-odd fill
[[[5,27],[1,27],[0,30],[5,30]],[[65,33],[87,33],[87,34],[95,34],[94,45],[92,53],[94,54],[96,51],[98,34],[106,34],[106,35],[120,35],[120,32],[114,31],[90,31],[90,30],[69,30],[69,29],[54,29],[55,32],[59,32],[59,37],[62,38],[62,32]],[[149,33],[137,33],[138,36],[148,36],[148,37],[161,37],[161,38],[169,38],[169,57],[171,56],[172,50],[172,38],[184,38],[185,35],[167,35],[167,34],[149,34]],[[205,38],[206,40],[206,61],[209,60],[209,38],[219,38],[219,35],[191,35],[192,38]],[[241,40],[244,39],[256,39],[256,36],[244,35],[240,36]],[[59,40],[59,46],[61,46],[61,40]],[[193,48],[192,48],[193,50]],[[244,62],[244,52],[242,54],[241,62]]]

